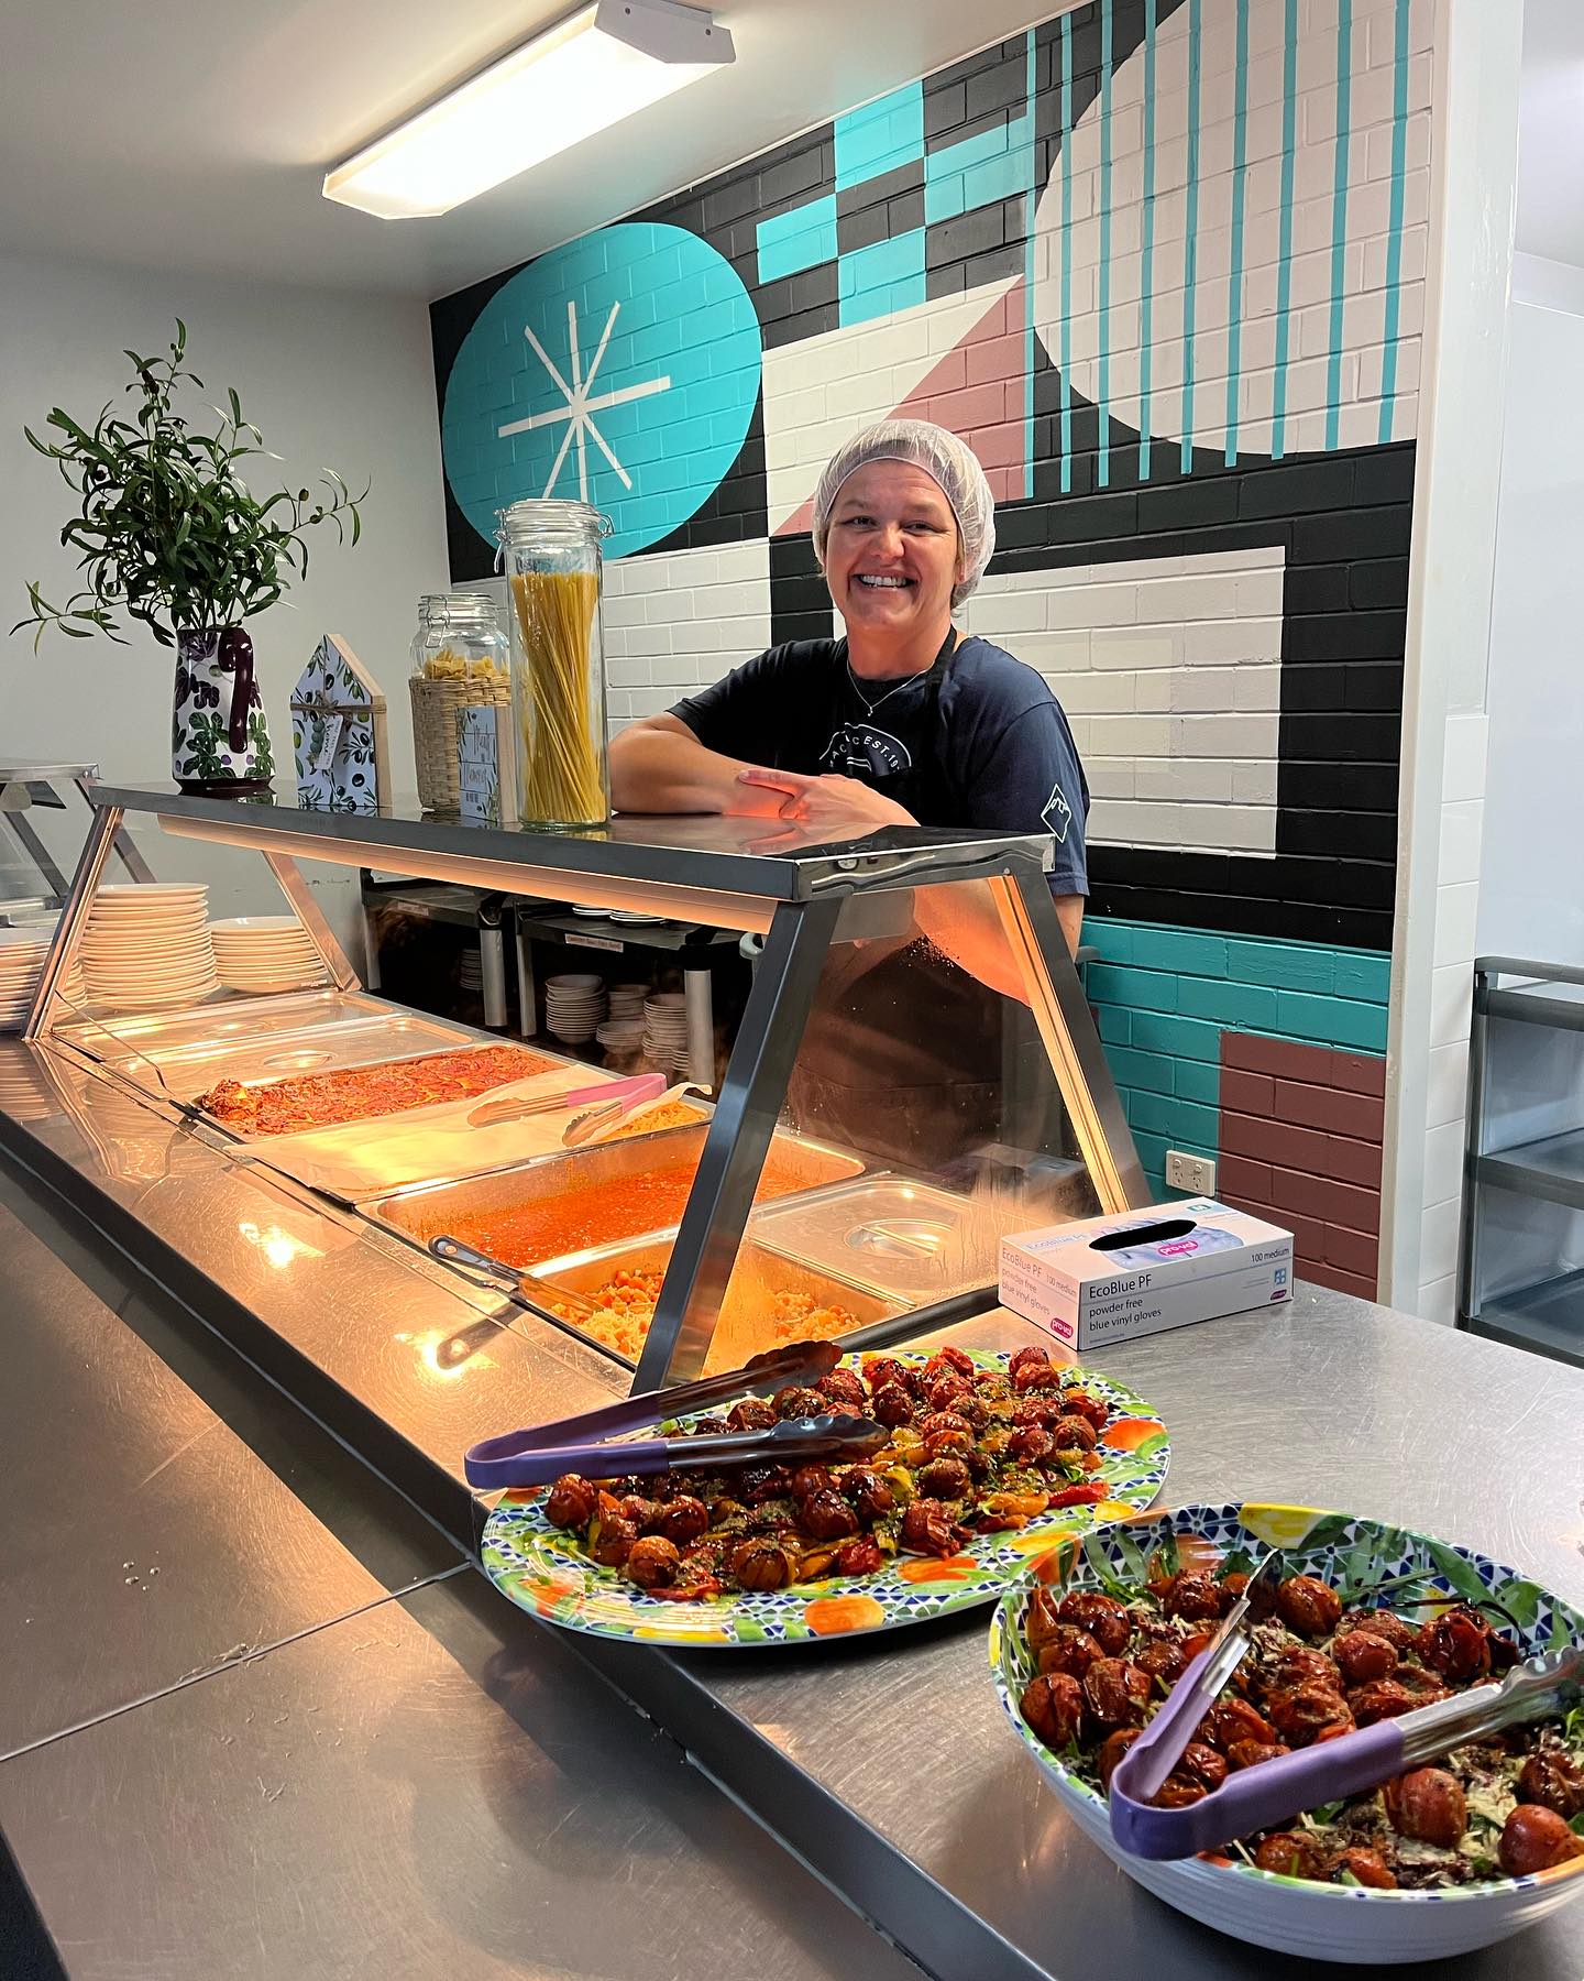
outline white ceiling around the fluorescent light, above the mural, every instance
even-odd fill
[[[0,0],[0,250],[436,297],[1061,0],[719,0],[737,63],[440,220],[321,198],[568,0]]]

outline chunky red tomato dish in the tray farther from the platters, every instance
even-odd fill
[[[418,1060],[301,1074],[257,1088],[222,1080],[198,1097],[198,1107],[238,1135],[295,1135],[341,1121],[404,1113],[408,1107],[471,1099],[513,1080],[544,1074],[556,1064],[523,1046],[469,1046],[430,1052]]]

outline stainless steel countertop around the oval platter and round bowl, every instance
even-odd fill
[[[964,1345],[1040,1339],[1014,1315]],[[1291,1307],[1109,1349],[1172,1432],[1174,1504],[1346,1508],[1467,1541],[1584,1603],[1584,1375],[1299,1288]],[[1212,1933],[1123,1876],[1002,1718],[984,1615],[867,1644],[651,1654],[580,1638],[816,1870],[942,1975],[1275,1981],[1336,1973]],[[1457,1963],[1580,1981],[1584,1904]]]

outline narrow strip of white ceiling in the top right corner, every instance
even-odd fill
[[[1525,6],[1517,244],[1584,265],[1584,0]]]

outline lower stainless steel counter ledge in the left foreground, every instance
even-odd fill
[[[495,1593],[329,1432],[0,1199],[0,1832],[67,1973],[915,1971],[564,1642],[503,1646]],[[18,1977],[26,1924],[0,1880]]]

